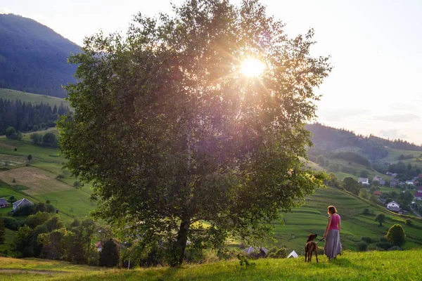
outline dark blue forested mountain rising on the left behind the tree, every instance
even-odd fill
[[[80,47],[49,27],[20,15],[0,15],[0,88],[63,98],[75,81],[70,53]]]

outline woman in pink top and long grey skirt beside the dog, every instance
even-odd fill
[[[328,256],[328,260],[330,260],[335,259],[338,254],[341,254],[341,219],[334,206],[328,206],[328,215],[328,224],[324,233],[324,238],[326,238],[324,251],[326,256]]]

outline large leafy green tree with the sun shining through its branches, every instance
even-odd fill
[[[188,238],[260,239],[321,185],[301,159],[331,66],[309,55],[312,30],[283,27],[258,1],[188,0],[174,16],[137,15],[126,37],[85,39],[70,58],[75,111],[58,127],[96,216],[170,243],[177,265]]]

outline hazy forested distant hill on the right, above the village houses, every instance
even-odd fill
[[[333,152],[335,150],[356,150],[361,155],[368,157],[371,161],[383,159],[388,155],[388,149],[422,151],[421,145],[407,141],[388,140],[377,136],[357,135],[346,129],[335,129],[319,123],[307,124],[307,130],[312,133],[314,147],[309,150],[311,155],[321,155],[322,152]]]

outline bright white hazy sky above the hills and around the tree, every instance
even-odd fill
[[[262,2],[292,37],[313,27],[313,53],[331,55],[333,72],[316,89],[320,122],[422,143],[422,1]],[[170,13],[170,0],[0,0],[0,13],[33,18],[79,45],[100,29],[124,32],[139,11]]]

